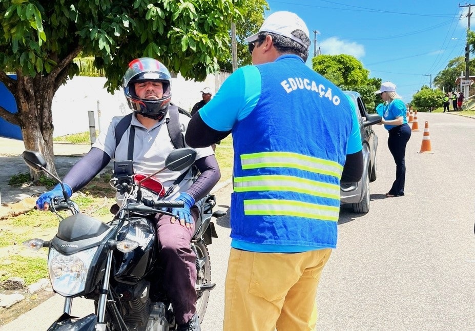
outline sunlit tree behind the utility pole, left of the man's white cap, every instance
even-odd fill
[[[241,18],[235,19],[236,23],[236,49],[238,67],[251,64],[251,54],[247,43],[244,42],[246,37],[256,33],[264,22],[264,11],[269,10],[269,4],[265,0],[242,0],[240,7]],[[218,57],[218,64],[221,70],[233,71],[233,57],[231,54],[231,31],[230,43],[228,48]]]

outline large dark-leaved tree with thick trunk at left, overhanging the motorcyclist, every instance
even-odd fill
[[[3,0],[0,81],[15,97],[18,113],[0,107],[0,116],[20,126],[25,148],[42,153],[56,173],[51,104],[58,87],[78,74],[73,59],[79,53],[95,58],[110,92],[130,60],[141,56],[204,79],[218,70],[241,1]]]

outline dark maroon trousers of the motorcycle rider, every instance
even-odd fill
[[[193,218],[198,217],[198,209],[192,208]],[[178,324],[186,323],[196,311],[197,294],[195,253],[191,249],[194,229],[180,225],[171,217],[159,215],[157,234],[160,245],[159,261],[163,267],[163,287],[173,305]]]

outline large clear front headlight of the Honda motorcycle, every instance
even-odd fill
[[[54,291],[70,297],[84,291],[89,268],[97,247],[63,255],[51,247],[48,256],[48,269]]]

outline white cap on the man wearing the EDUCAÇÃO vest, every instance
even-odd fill
[[[252,43],[257,40],[257,36],[260,32],[271,32],[291,38],[304,47],[309,47],[310,45],[305,45],[300,38],[292,35],[294,30],[302,30],[305,32],[308,39],[310,39],[308,28],[299,16],[290,11],[276,11],[264,20],[264,23],[262,23],[262,26],[257,33],[245,38],[244,40],[248,43]]]

